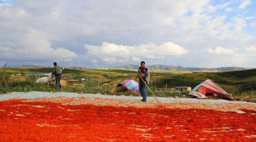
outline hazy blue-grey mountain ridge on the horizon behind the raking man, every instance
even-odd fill
[[[116,69],[138,69],[139,65],[123,65],[120,67],[113,67]],[[178,70],[178,66],[172,65],[149,65],[146,66],[148,69],[157,69],[157,70]],[[244,68],[244,67],[218,67],[218,68],[205,68],[205,67],[182,67],[180,66],[180,71],[234,71],[234,70],[246,70],[254,68]]]

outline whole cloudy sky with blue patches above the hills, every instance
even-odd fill
[[[254,0],[0,0],[0,65],[255,67]]]

